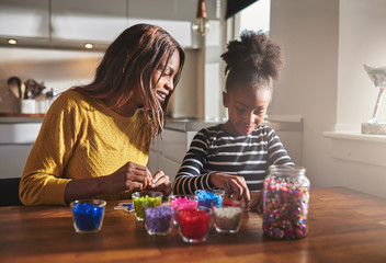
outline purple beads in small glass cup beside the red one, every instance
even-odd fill
[[[149,235],[168,235],[171,229],[174,210],[168,205],[145,209],[146,229]]]

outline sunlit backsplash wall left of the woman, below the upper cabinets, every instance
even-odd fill
[[[101,53],[49,50],[35,48],[0,48],[0,112],[18,112],[18,101],[9,92],[7,80],[18,76],[22,81],[44,81],[46,92],[57,92],[92,80]]]

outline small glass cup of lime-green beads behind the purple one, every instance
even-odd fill
[[[137,221],[144,221],[144,210],[143,205],[149,204],[151,207],[156,207],[161,205],[162,193],[155,191],[144,191],[144,192],[135,192],[132,194],[132,199],[134,204],[135,216],[137,217]]]

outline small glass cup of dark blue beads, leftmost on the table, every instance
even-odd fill
[[[70,203],[73,228],[78,233],[93,233],[102,229],[104,208],[103,199],[79,199]]]

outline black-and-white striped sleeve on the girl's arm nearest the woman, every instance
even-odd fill
[[[196,190],[211,190],[211,173],[203,173],[207,160],[209,139],[207,129],[200,130],[193,138],[189,151],[173,182],[174,194],[194,194]]]

